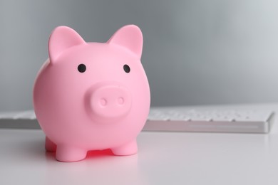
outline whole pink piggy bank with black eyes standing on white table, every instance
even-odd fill
[[[46,151],[61,162],[82,160],[91,150],[138,152],[136,137],[150,110],[142,50],[143,36],[134,25],[106,43],[87,43],[66,26],[54,29],[33,92]]]

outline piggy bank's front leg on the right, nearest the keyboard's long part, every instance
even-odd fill
[[[138,151],[136,139],[126,144],[121,145],[120,147],[115,147],[111,149],[115,155],[132,155],[136,154]]]

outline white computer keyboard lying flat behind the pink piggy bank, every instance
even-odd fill
[[[268,133],[272,110],[151,107],[145,131]],[[34,110],[0,112],[0,128],[40,128]]]

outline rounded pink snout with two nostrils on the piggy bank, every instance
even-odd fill
[[[118,83],[98,83],[88,97],[91,114],[101,120],[128,115],[132,103],[128,89]]]

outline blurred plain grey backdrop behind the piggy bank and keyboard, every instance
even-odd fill
[[[0,110],[32,108],[60,25],[96,42],[138,25],[153,106],[277,102],[277,10],[266,0],[0,0]]]

